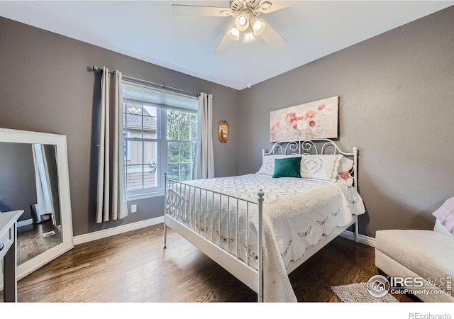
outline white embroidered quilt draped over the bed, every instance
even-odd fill
[[[258,191],[264,191],[263,254],[265,302],[296,302],[286,268],[334,228],[365,213],[362,198],[342,182],[259,174],[199,179],[171,187],[167,213],[257,269]],[[249,211],[249,213],[247,213]],[[227,213],[228,212],[228,213]],[[249,220],[245,222],[246,218]],[[238,227],[237,227],[238,225]]]

